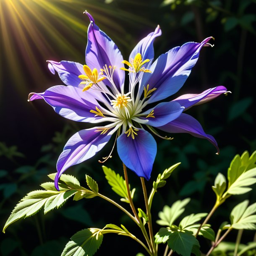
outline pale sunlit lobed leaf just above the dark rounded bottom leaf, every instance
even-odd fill
[[[173,222],[180,217],[180,215],[185,211],[184,206],[188,204],[190,198],[184,199],[182,201],[178,200],[172,204],[171,207],[165,205],[162,212],[159,212],[159,220],[157,220],[158,225],[170,227]]]

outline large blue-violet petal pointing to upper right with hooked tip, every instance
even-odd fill
[[[152,73],[144,73],[140,95],[147,84],[149,84],[149,90],[157,88],[149,98],[149,103],[175,94],[183,86],[191,68],[196,64],[201,48],[211,38],[208,37],[201,43],[188,42],[160,55],[150,68]]]

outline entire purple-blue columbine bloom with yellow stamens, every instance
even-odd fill
[[[209,46],[212,37],[201,43],[188,42],[154,59],[154,39],[162,34],[157,26],[132,50],[129,61],[116,44],[90,19],[86,65],[70,61],[48,61],[67,86],[53,86],[43,93],[31,93],[29,100],[44,99],[55,112],[65,118],[104,126],[85,129],[74,134],[67,142],[57,161],[55,186],[60,175],[72,165],[84,162],[99,152],[116,133],[117,150],[123,163],[139,177],[149,180],[157,143],[151,131],[190,133],[206,138],[219,152],[215,139],[204,132],[200,123],[183,113],[188,108],[208,102],[227,92],[223,86],[185,94],[177,99],[161,102],[175,94],[188,78],[203,46]],[[125,68],[125,66],[126,68]],[[124,86],[125,72],[129,85]],[[154,107],[152,103],[156,103]],[[146,128],[146,130],[145,130]]]

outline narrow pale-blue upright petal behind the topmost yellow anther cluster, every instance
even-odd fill
[[[138,42],[138,44],[132,50],[129,60],[131,58],[134,59],[135,55],[137,53],[140,53],[142,60],[146,60],[146,59],[150,60],[150,62],[144,65],[145,68],[148,68],[148,66],[152,63],[154,59],[154,47],[153,47],[154,39],[156,37],[161,36],[161,34],[162,34],[162,31],[160,29],[160,26],[158,25],[154,32],[149,33],[140,42]]]

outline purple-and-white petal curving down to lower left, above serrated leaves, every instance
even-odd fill
[[[111,135],[101,134],[97,128],[91,128],[75,133],[66,143],[57,161],[55,188],[59,190],[58,180],[68,167],[77,165],[93,157],[110,140]]]

